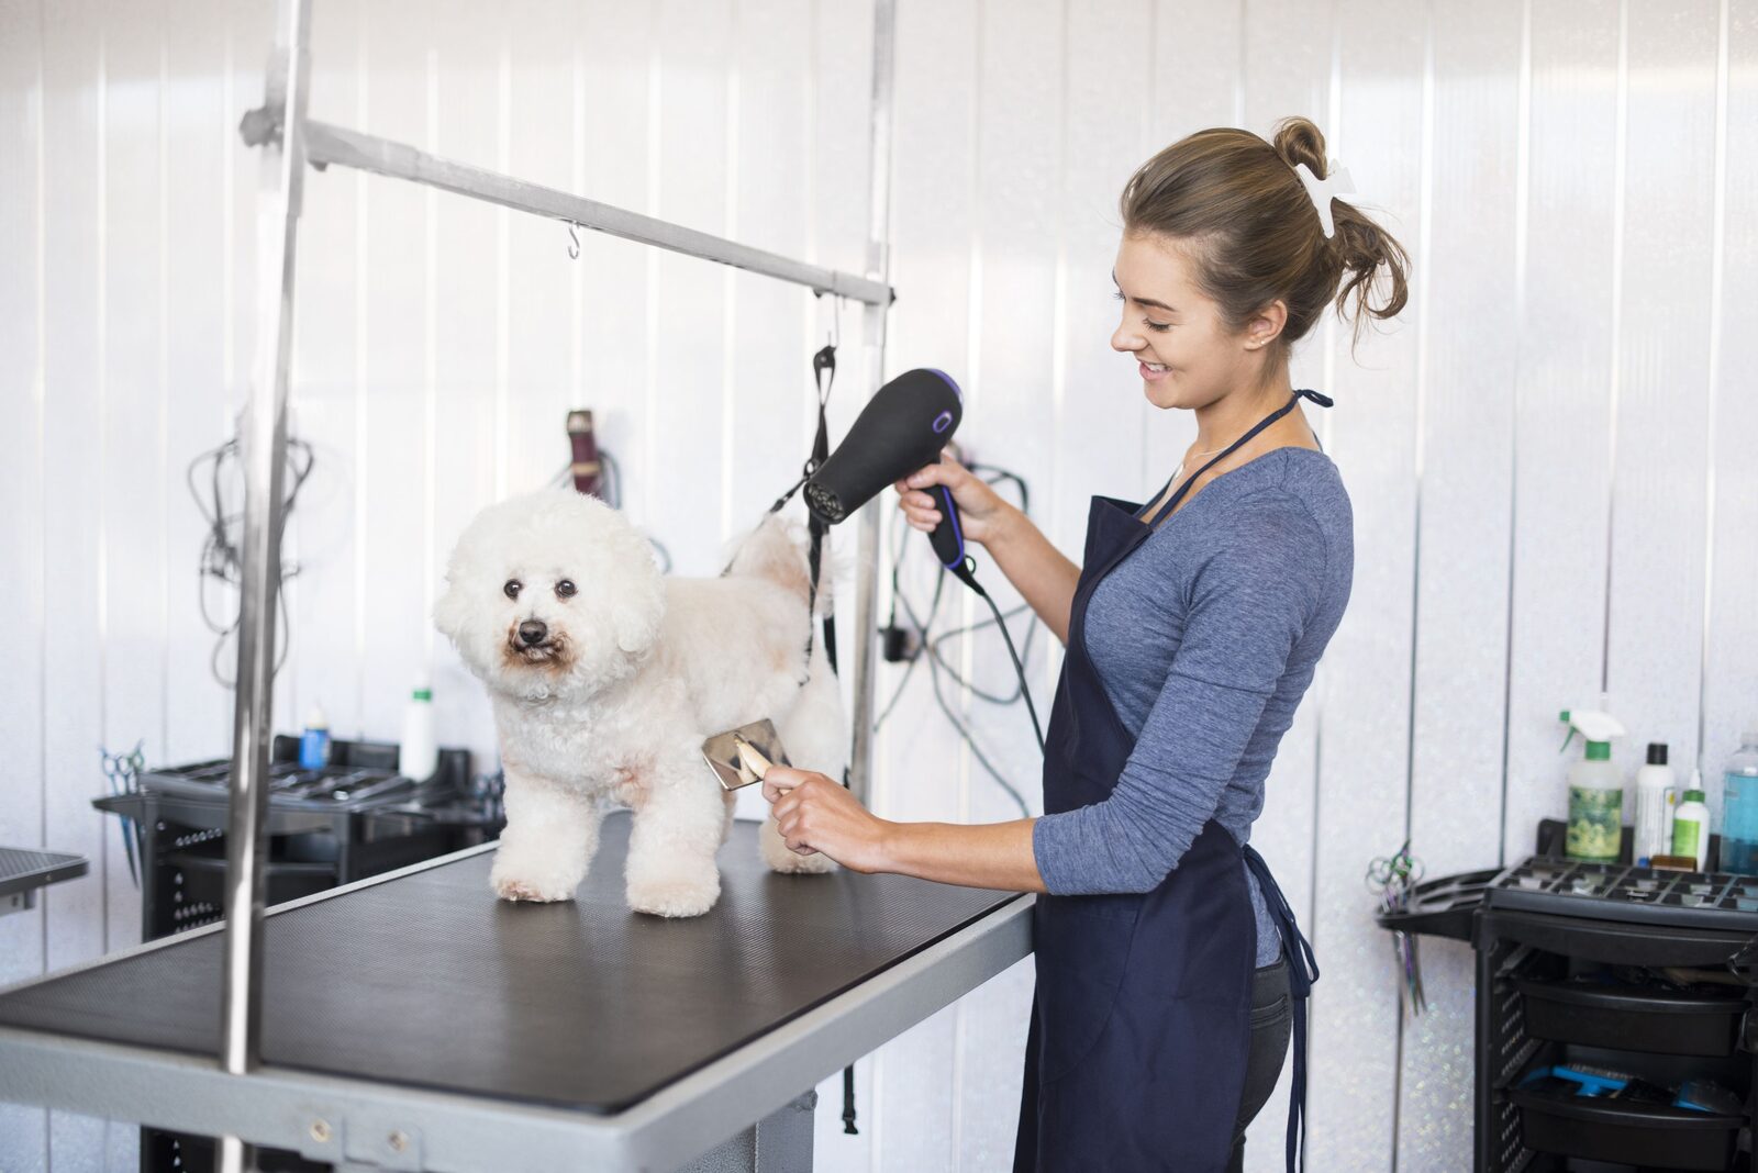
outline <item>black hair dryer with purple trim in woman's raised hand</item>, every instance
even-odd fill
[[[872,500],[902,476],[939,464],[963,414],[958,385],[944,371],[918,367],[897,376],[867,400],[837,451],[805,481],[805,507],[830,525]],[[928,534],[948,569],[962,567],[965,537],[944,485],[933,485],[941,523]]]

